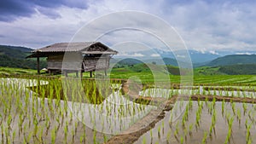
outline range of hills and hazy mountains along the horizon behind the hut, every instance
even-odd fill
[[[30,68],[36,69],[37,63],[35,59],[26,59],[27,55],[30,55],[30,52],[33,49],[19,46],[8,46],[8,45],[0,45],[0,66],[7,67],[20,67],[20,68]],[[189,54],[193,53],[195,58],[198,60],[202,60],[204,62],[195,63],[195,58],[193,55],[190,55],[191,58],[194,59],[193,65],[195,68],[195,73],[202,75],[215,75],[215,74],[256,74],[256,55],[218,55],[211,53],[201,53],[196,51],[189,51]],[[163,57],[163,55],[171,55],[171,53],[166,53],[164,51],[160,51],[159,57],[148,56],[143,59],[139,59],[137,57],[134,58],[113,58],[110,63],[118,64],[114,67],[122,67],[122,66],[134,66],[133,69],[139,69],[138,64],[148,63],[154,65],[168,65],[170,70],[175,70],[177,72],[177,60],[171,57]],[[247,53],[245,53],[247,54]],[[254,53],[250,53],[254,54]],[[150,55],[148,53],[148,55]],[[152,54],[151,54],[152,55]],[[208,57],[208,58],[205,58]],[[213,59],[216,57],[215,59]],[[124,59],[124,60],[122,60]],[[213,59],[213,60],[211,60]],[[193,62],[193,60],[192,60]],[[180,61],[181,65],[186,66],[188,63]],[[135,66],[137,65],[137,66]],[[40,61],[40,68],[46,67],[46,60],[42,59]],[[174,68],[172,67],[174,66]],[[186,68],[186,67],[184,67]],[[173,71],[172,71],[173,72]]]

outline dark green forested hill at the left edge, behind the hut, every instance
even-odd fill
[[[35,59],[26,59],[26,56],[30,55],[30,51],[32,49],[25,47],[0,45],[0,66],[36,69],[37,61]],[[46,66],[46,60],[41,60],[40,68]]]

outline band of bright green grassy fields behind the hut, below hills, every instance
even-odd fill
[[[148,68],[142,68],[139,72],[137,72],[137,67],[120,67],[120,68],[113,68],[109,70],[108,76],[109,78],[137,78],[142,81],[142,83],[154,83],[155,81],[160,82],[168,82],[171,80],[172,84],[179,84],[181,76],[166,74],[163,69],[158,69],[158,71],[150,72]],[[207,69],[207,67],[205,67]],[[217,69],[217,68],[216,68]],[[194,84],[220,84],[220,85],[247,85],[247,84],[256,84],[256,76],[255,75],[200,75],[195,69]],[[207,70],[208,71],[208,70]],[[11,77],[13,75],[18,75],[20,77],[26,75],[34,75],[36,77],[37,71],[32,69],[22,69],[22,68],[12,68],[12,67],[0,67],[0,76],[2,77]],[[157,76],[157,78],[154,77]],[[42,74],[42,78],[49,77],[48,74]],[[69,73],[69,77],[75,77],[75,73]],[[90,78],[90,72],[83,73],[84,78]],[[166,78],[169,77],[169,78]],[[51,77],[61,77],[61,74],[54,75]],[[186,76],[183,76],[186,78]]]

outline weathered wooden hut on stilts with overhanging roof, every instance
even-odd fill
[[[118,52],[108,48],[100,42],[81,42],[81,43],[55,43],[41,49],[32,51],[32,55],[26,58],[37,58],[38,74],[40,73],[40,57],[47,57],[47,69],[49,73],[62,72],[67,75],[68,72],[76,72],[83,76],[83,72],[92,73],[97,70],[108,70],[111,56]]]

